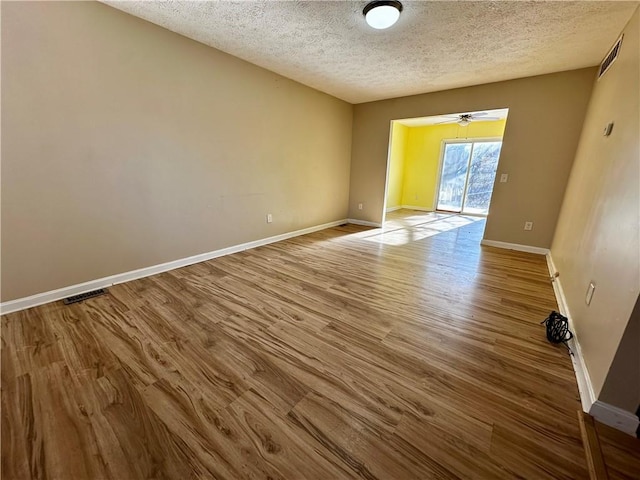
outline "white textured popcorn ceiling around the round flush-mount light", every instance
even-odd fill
[[[404,1],[374,30],[366,1],[104,3],[351,103],[597,65],[638,6]]]

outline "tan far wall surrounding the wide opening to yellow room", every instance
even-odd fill
[[[498,166],[509,182],[495,185],[485,238],[548,248],[594,76],[588,68],[355,105],[349,217],[382,219],[391,120],[509,108]]]

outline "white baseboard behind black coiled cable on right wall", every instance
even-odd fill
[[[576,333],[575,325],[569,311],[569,305],[567,304],[567,298],[564,295],[562,289],[562,282],[560,277],[556,277],[555,264],[553,263],[553,257],[551,252],[547,253],[547,267],[549,268],[549,276],[553,279],[551,284],[553,285],[553,292],[556,295],[558,302],[558,309],[560,313],[567,317],[569,320],[569,329],[573,332],[573,338],[567,342],[569,348],[573,352],[571,355],[571,362],[573,363],[573,370],[576,373],[576,381],[578,382],[578,391],[580,392],[580,403],[582,404],[582,410],[589,413],[591,407],[596,402],[596,394],[593,390],[593,384],[591,383],[591,377],[589,376],[589,370],[587,370],[587,364],[584,361],[582,355],[582,349],[580,348],[580,341]],[[604,422],[602,422],[604,423]]]

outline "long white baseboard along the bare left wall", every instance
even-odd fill
[[[174,270],[180,267],[186,267],[188,265],[193,265],[194,263],[211,260],[212,258],[242,252],[244,250],[249,250],[251,248],[256,248],[262,245],[268,245],[269,243],[280,242],[282,240],[287,240],[288,238],[306,235],[308,233],[317,232],[326,228],[336,227],[345,223],[347,223],[346,219],[336,220],[334,222],[324,223],[322,225],[303,228],[302,230],[274,235],[273,237],[262,238],[260,240],[254,240],[252,242],[241,243],[239,245],[233,245],[227,248],[221,248],[212,252],[201,253],[199,255],[193,255],[191,257],[181,258],[179,260],[173,260],[171,262],[162,263],[160,265],[153,265],[150,267],[140,268],[138,270],[132,270],[130,272],[118,273],[109,277],[79,283],[77,285],[71,285],[69,287],[59,288],[57,290],[38,293],[36,295],[31,295],[30,297],[10,300],[8,302],[0,303],[0,314],[4,315],[7,313],[17,312],[18,310],[24,310],[26,308],[37,307],[38,305],[55,302],[56,300],[67,298],[73,295],[78,295],[80,293],[86,293],[92,290],[97,290],[99,288],[110,287],[118,283],[129,282],[138,278],[148,277],[150,275],[167,272],[169,270]]]

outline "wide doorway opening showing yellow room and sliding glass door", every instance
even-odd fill
[[[393,120],[383,226],[398,210],[390,227],[407,210],[487,217],[507,115],[504,108]]]

